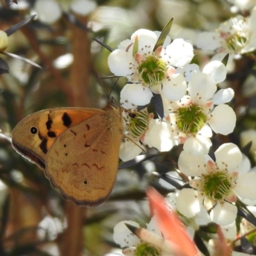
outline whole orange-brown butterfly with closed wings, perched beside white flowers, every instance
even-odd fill
[[[115,102],[103,109],[52,108],[21,120],[12,146],[44,170],[65,199],[93,207],[115,184],[122,131]]]

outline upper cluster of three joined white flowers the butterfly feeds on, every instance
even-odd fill
[[[200,71],[197,65],[189,64],[193,46],[183,39],[170,43],[168,36],[154,51],[159,35],[140,29],[109,54],[111,72],[129,79],[120,95],[121,106],[127,110],[125,133],[137,144],[141,141],[161,152],[182,143],[187,152],[207,154],[212,131],[227,135],[236,125],[233,109],[225,104],[234,91],[227,88],[217,92],[218,83],[227,74],[225,65],[211,61]],[[138,111],[138,106],[149,104],[153,95],[163,102],[161,118],[147,109]],[[136,143],[125,140],[122,144],[123,161],[140,154]]]

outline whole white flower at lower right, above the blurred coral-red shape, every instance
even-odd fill
[[[237,196],[242,200],[255,200],[256,172],[241,172],[242,154],[233,143],[221,145],[215,157],[214,162],[210,157],[181,152],[178,161],[180,172],[194,178],[189,182],[193,189],[179,191],[177,209],[191,218],[204,205],[211,210],[212,221],[228,225],[236,219],[237,207],[232,203],[236,202]]]

